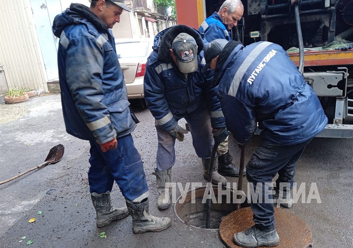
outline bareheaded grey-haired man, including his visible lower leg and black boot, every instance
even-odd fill
[[[232,27],[237,26],[243,16],[244,7],[240,0],[226,0],[223,2],[219,12],[203,21],[199,32],[203,33],[204,47],[215,39],[231,41]],[[203,51],[201,51],[203,56]],[[218,172],[223,176],[239,176],[239,166],[233,164],[233,157],[228,152],[228,138],[217,147]],[[245,175],[245,171],[241,173]]]

